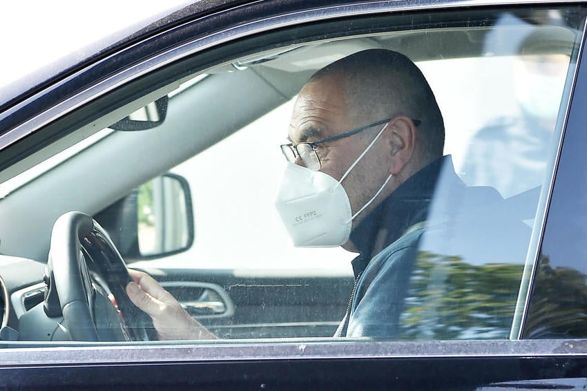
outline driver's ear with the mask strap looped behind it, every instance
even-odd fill
[[[389,134],[389,173],[401,173],[407,162],[412,160],[416,145],[416,126],[410,117],[398,115],[389,122],[392,133]]]

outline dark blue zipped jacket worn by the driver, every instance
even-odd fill
[[[430,330],[439,321],[438,314],[434,314],[433,295],[423,298],[421,292],[420,296],[411,291],[408,294],[418,256],[440,254],[440,258],[428,258],[458,259],[472,265],[523,265],[530,229],[511,214],[495,189],[466,187],[454,173],[449,156],[413,175],[351,233],[360,256],[352,262],[356,286],[338,335],[406,338],[401,336],[401,328],[406,327],[404,311],[410,305],[406,301],[429,300],[432,305],[419,315],[416,325],[422,329],[419,336],[414,337],[413,325],[409,331],[410,338],[432,336]],[[510,239],[514,243],[510,246],[495,245]],[[425,276],[429,287],[447,278],[445,271],[434,267],[417,276]],[[514,290],[510,294],[512,307],[516,294]],[[507,338],[503,335],[508,334],[505,326],[489,328],[485,330],[488,336]],[[461,330],[461,335],[474,337],[467,330]]]

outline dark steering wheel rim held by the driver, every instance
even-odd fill
[[[65,326],[74,341],[99,341],[93,314],[93,287],[88,263],[106,281],[119,309],[124,340],[144,341],[146,315],[130,301],[125,287],[131,277],[122,256],[100,225],[86,213],[64,213],[53,225],[49,267],[50,280],[59,297]],[[97,269],[97,270],[96,270]],[[132,312],[132,313],[131,313]],[[125,317],[125,315],[131,315]]]

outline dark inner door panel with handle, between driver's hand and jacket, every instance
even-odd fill
[[[225,312],[202,316],[192,309],[191,314],[223,338],[332,336],[354,282],[351,276],[268,277],[263,270],[258,276],[254,270],[247,276],[231,269],[144,271],[184,305],[197,302],[206,289],[219,292]]]

